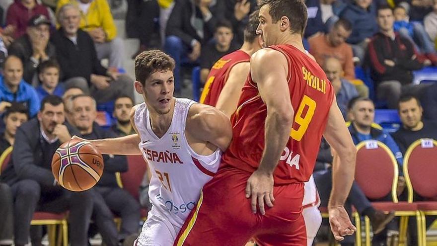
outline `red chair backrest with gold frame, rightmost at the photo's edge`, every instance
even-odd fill
[[[425,198],[437,196],[437,141],[419,139],[405,152],[404,175],[407,186]],[[408,196],[413,201],[413,193]]]

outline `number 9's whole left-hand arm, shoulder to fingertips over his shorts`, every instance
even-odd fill
[[[251,197],[252,212],[256,205],[265,214],[264,201],[273,206],[273,171],[289,140],[293,122],[290,90],[288,86],[288,63],[279,51],[261,49],[250,59],[250,71],[257,83],[261,98],[267,105],[265,147],[258,169],[247,180],[246,197]]]

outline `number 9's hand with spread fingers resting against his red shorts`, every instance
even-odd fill
[[[267,206],[273,207],[273,175],[261,171],[254,171],[247,180],[246,198],[251,198],[252,212],[256,214],[256,205],[262,215],[266,214],[264,201]]]

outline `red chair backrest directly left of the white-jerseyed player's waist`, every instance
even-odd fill
[[[147,163],[143,156],[127,156],[128,171],[120,174],[123,188],[135,199],[139,200],[139,189],[147,170]]]

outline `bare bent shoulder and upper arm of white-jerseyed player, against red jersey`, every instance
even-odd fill
[[[190,107],[186,129],[193,138],[190,142],[206,143],[205,148],[211,150],[218,147],[225,151],[232,140],[229,119],[217,108],[205,104],[195,103]]]

